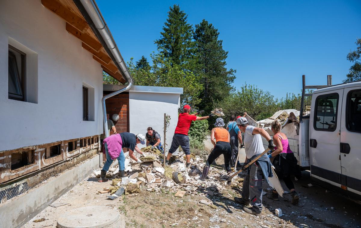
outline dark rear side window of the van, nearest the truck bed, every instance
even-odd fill
[[[314,129],[318,131],[335,131],[337,124],[337,93],[321,95],[316,98]]]

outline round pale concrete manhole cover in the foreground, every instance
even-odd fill
[[[114,207],[79,207],[61,214],[57,220],[58,228],[105,228],[121,227],[119,212]]]

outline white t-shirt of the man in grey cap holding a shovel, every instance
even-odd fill
[[[255,129],[255,126],[248,125],[246,127],[246,130],[244,132],[244,150],[246,153],[246,157],[252,158],[256,154],[261,154],[265,151],[262,143],[262,137],[260,134],[252,135],[253,130]]]

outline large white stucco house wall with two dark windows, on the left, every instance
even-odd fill
[[[37,83],[28,88],[37,90],[37,104],[8,99],[9,38],[38,55]],[[83,83],[94,87],[95,121],[82,118]],[[66,32],[63,19],[40,0],[1,0],[0,151],[102,133],[102,95],[100,63]]]

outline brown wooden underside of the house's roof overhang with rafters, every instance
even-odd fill
[[[82,41],[82,47],[93,55],[93,59],[101,64],[106,73],[122,84],[127,82],[126,76],[96,29],[91,17],[84,10],[81,1],[41,0],[41,2],[45,8],[65,20],[66,31]],[[110,39],[114,42],[113,37]]]

